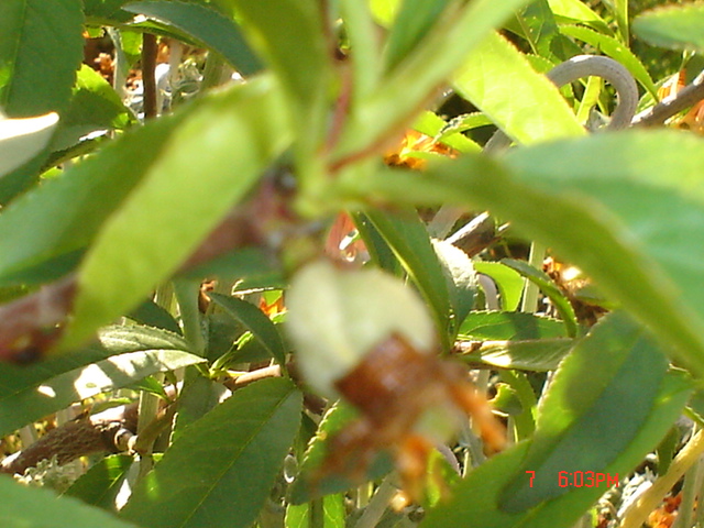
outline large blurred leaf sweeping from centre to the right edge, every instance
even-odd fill
[[[704,324],[704,290],[691,285],[704,262],[703,144],[672,131],[604,133],[517,148],[504,158],[513,176],[466,154],[422,176],[381,168],[358,184],[389,204],[447,202],[509,220],[583,270],[701,377],[704,340],[694,329]]]

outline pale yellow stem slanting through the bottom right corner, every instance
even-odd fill
[[[658,507],[662,497],[698,461],[702,453],[704,453],[704,430],[697,431],[674,458],[668,472],[658,479],[626,512],[620,528],[640,528],[650,512]]]

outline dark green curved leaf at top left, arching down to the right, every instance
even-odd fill
[[[124,11],[143,14],[185,31],[210,50],[222,55],[243,76],[262,69],[240,29],[218,11],[197,3],[174,1],[131,2]]]

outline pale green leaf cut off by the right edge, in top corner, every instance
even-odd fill
[[[634,21],[636,35],[650,44],[674,50],[704,51],[704,6],[672,6],[660,8],[637,16]]]

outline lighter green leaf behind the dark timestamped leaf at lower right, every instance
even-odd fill
[[[593,370],[591,370],[593,372]],[[671,424],[680,416],[691,391],[691,383],[682,376],[669,374],[659,387],[656,405],[637,436],[604,473],[618,477],[630,472],[654,448]],[[626,407],[624,407],[626,408]],[[522,459],[532,446],[521,442],[493,457],[470,473],[453,490],[453,497],[429,512],[421,528],[455,528],[466,519],[484,528],[569,528],[605,492],[603,486],[570,487],[561,497],[541,503],[518,514],[498,509],[498,496],[513,482]]]

